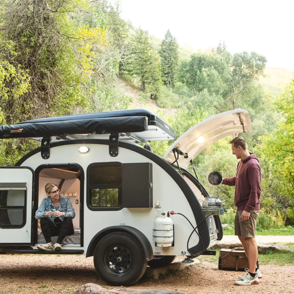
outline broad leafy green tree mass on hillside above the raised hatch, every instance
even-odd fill
[[[215,108],[217,112],[224,112],[246,106],[246,90],[249,100],[253,90],[262,91],[255,87],[255,81],[263,75],[265,64],[265,57],[255,52],[231,56],[224,45],[219,45],[213,54],[192,54],[190,61],[181,64],[178,76],[191,89],[194,107]],[[207,93],[205,104],[202,104],[205,101],[198,99],[203,91]]]

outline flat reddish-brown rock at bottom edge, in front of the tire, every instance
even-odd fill
[[[181,292],[155,289],[131,289],[131,288],[116,288],[107,290],[93,283],[88,283],[79,288],[75,294],[183,294]]]

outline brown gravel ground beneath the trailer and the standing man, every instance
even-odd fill
[[[183,257],[179,257],[181,259]],[[238,272],[218,270],[217,263],[189,266],[164,279],[141,279],[131,288],[177,290],[190,293],[294,293],[294,266],[264,265],[259,285],[238,286]],[[105,285],[96,275],[93,258],[84,255],[0,255],[1,294],[75,293],[83,284]]]

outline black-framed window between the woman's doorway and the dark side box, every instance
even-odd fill
[[[121,206],[121,163],[93,163],[89,168],[88,177],[90,206],[93,208]]]

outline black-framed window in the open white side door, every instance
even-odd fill
[[[26,190],[0,191],[0,228],[21,228],[25,225]]]

